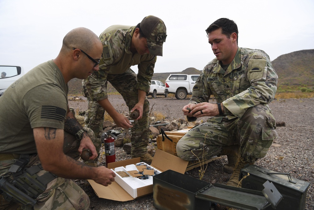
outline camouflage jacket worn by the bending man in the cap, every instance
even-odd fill
[[[157,57],[152,54],[132,54],[130,47],[135,27],[114,25],[100,34],[103,53],[99,71],[94,72],[83,82],[92,100],[108,98],[105,85],[108,74],[122,74],[133,65],[138,65],[138,83],[135,88],[149,92]]]

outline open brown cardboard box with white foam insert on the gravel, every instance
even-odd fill
[[[140,163],[140,158],[133,158],[124,161],[112,162],[108,163],[108,168],[113,171],[115,168],[123,167],[126,168],[129,165],[135,165]],[[162,173],[166,170],[173,170],[178,173],[185,173],[187,168],[187,161],[182,160],[181,158],[171,155],[162,150],[156,150],[155,156],[153,158],[153,162],[150,165],[155,168],[158,173]],[[132,167],[132,166],[131,166]],[[120,170],[120,168],[119,168]],[[94,180],[88,180],[89,184],[92,186],[96,195],[100,198],[106,198],[114,201],[131,201],[135,198],[146,196],[153,193],[153,183],[147,184],[139,184],[138,187],[130,186],[126,181],[123,180],[118,174],[116,174],[115,182],[105,187],[101,184],[97,184]],[[138,179],[138,178],[135,178]],[[141,180],[142,181],[142,180]],[[143,180],[146,181],[146,180]],[[119,184],[118,184],[119,183]],[[123,189],[123,187],[129,191],[132,196]],[[135,197],[135,198],[134,198]]]

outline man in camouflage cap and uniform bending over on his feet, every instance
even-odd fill
[[[166,26],[155,16],[147,16],[137,26],[114,25],[100,34],[103,54],[99,71],[83,80],[83,95],[88,99],[85,127],[91,128],[100,141],[105,110],[117,126],[131,128],[131,156],[150,163],[149,92],[157,55],[162,56]],[[138,65],[138,74],[130,68]],[[107,82],[122,95],[129,111],[138,110],[139,116],[131,125],[127,117],[118,113],[107,95]]]

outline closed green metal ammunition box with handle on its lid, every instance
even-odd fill
[[[306,192],[310,183],[295,179],[289,173],[278,173],[266,168],[250,165],[242,169],[240,179],[249,173],[242,180],[242,188],[251,190],[263,190],[263,183],[269,180],[274,184],[278,191],[283,196],[283,200],[276,207],[276,210],[304,210],[306,202]],[[272,209],[271,207],[266,208]]]

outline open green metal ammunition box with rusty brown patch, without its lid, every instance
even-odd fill
[[[160,210],[208,209],[210,201],[198,199],[195,194],[210,185],[208,182],[167,170],[153,177],[154,207]]]

